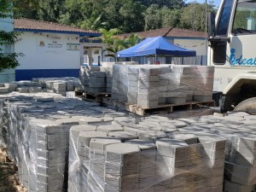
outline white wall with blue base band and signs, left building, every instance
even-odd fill
[[[23,53],[16,80],[46,77],[79,77],[79,35],[22,32],[15,52]]]

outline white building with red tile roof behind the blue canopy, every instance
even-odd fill
[[[144,39],[150,37],[162,36],[185,49],[195,50],[195,57],[161,57],[158,56],[156,61],[160,63],[175,63],[175,64],[207,64],[207,34],[205,32],[195,32],[188,29],[165,27],[147,32],[136,32],[137,36]],[[130,34],[121,34],[120,38],[128,38]],[[133,61],[138,61],[141,64],[154,63],[155,57],[135,57]]]

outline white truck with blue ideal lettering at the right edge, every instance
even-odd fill
[[[256,0],[222,0],[208,24],[207,63],[221,111],[256,113]]]

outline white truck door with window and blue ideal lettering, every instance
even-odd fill
[[[238,1],[231,27],[230,67],[256,67],[256,0]],[[227,53],[228,55],[228,53]]]

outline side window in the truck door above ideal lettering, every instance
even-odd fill
[[[232,33],[245,35],[256,32],[256,0],[239,1],[233,22]]]

